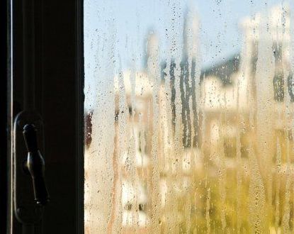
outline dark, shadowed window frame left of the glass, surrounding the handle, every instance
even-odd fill
[[[0,233],[21,233],[13,213],[12,123],[26,109],[23,3],[1,1]],[[34,11],[35,108],[44,121],[45,175],[51,201],[42,233],[84,233],[84,38],[82,0],[30,0]],[[12,37],[11,37],[12,35]],[[28,53],[28,52],[27,52]],[[6,60],[6,61],[5,61]],[[27,83],[26,83],[27,82]],[[29,188],[31,189],[31,188]],[[36,232],[37,233],[37,232]]]

